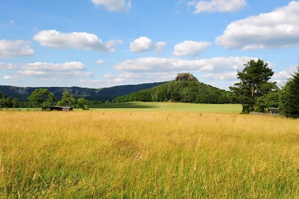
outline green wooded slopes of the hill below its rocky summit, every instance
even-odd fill
[[[113,103],[121,102],[162,102],[225,104],[234,103],[231,92],[196,81],[170,81],[168,83],[117,97]]]

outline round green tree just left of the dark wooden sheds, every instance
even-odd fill
[[[49,109],[56,98],[52,92],[48,89],[35,89],[28,99],[35,105],[41,108],[41,110]]]

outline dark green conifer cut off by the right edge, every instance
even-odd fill
[[[286,117],[299,118],[299,66],[281,91],[280,109]]]

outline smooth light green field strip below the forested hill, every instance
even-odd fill
[[[91,110],[97,111],[174,111],[174,112],[218,112],[240,113],[240,104],[187,104],[165,102],[129,102],[118,104],[89,105]]]

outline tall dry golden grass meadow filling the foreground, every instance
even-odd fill
[[[299,197],[299,120],[0,112],[0,198]]]

